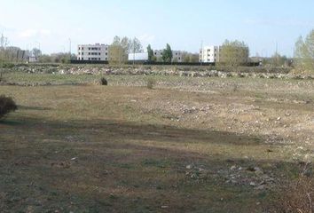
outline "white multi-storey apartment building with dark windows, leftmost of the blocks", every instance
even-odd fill
[[[108,60],[109,46],[106,44],[81,44],[77,47],[78,60]]]

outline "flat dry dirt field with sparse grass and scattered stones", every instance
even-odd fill
[[[313,158],[312,80],[4,77],[1,212],[268,212]]]

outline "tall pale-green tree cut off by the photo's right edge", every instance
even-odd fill
[[[301,71],[314,72],[314,30],[302,38],[299,37],[295,43],[294,52],[295,67]]]

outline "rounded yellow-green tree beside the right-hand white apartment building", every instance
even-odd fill
[[[225,40],[219,54],[221,64],[238,67],[248,62],[249,49],[244,42]]]

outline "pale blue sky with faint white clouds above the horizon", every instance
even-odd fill
[[[44,53],[78,43],[137,36],[146,46],[197,52],[238,39],[271,56],[293,55],[298,36],[314,28],[313,0],[0,0],[0,33],[11,45]]]

